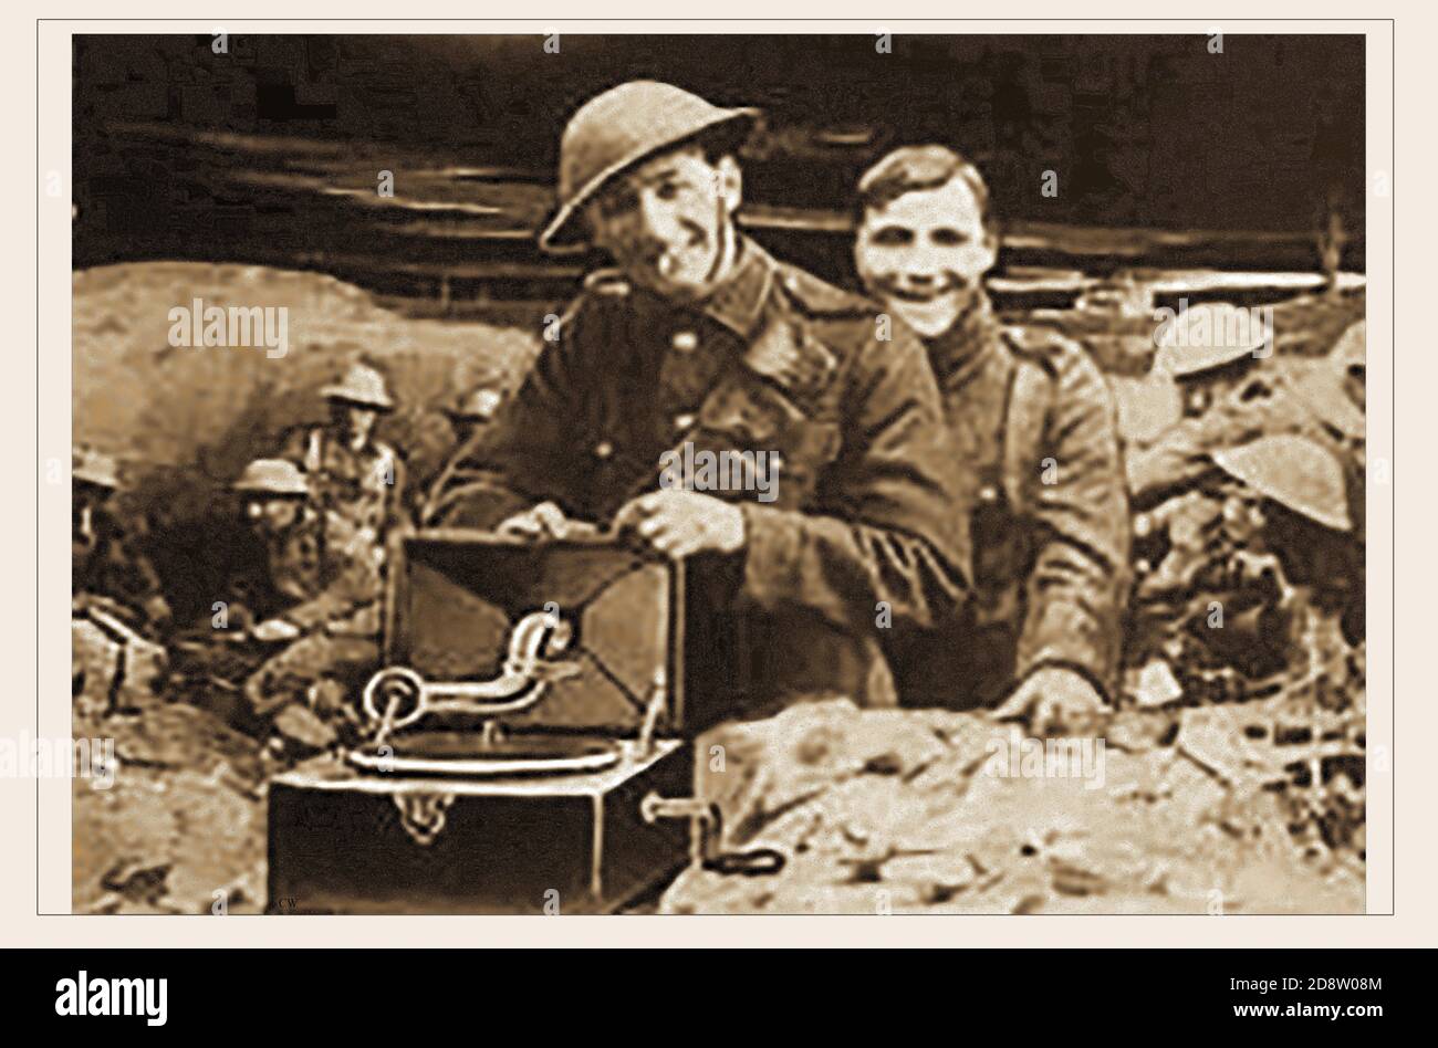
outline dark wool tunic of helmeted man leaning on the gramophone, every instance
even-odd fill
[[[742,506],[746,541],[692,558],[720,622],[702,673],[729,681],[729,713],[794,694],[892,703],[879,634],[953,614],[968,536],[923,349],[900,325],[887,334],[873,303],[748,240],[696,306],[592,277],[466,451],[492,482],[446,523],[554,500],[603,526],[660,486],[667,451],[777,456],[766,500],[706,492]]]

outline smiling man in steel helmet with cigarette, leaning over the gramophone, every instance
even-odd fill
[[[539,243],[588,242],[617,269],[588,280],[476,449],[496,499],[447,519],[531,538],[578,519],[689,558],[716,630],[690,676],[720,684],[726,712],[797,693],[887,704],[877,634],[962,599],[956,466],[913,335],[884,341],[870,302],[738,230],[755,115],[654,82],[575,112]],[[775,499],[663,483],[686,446],[777,454]]]

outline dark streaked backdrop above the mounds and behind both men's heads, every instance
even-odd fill
[[[210,36],[82,36],[75,266],[259,262],[503,298],[575,272],[531,237],[564,121],[656,78],[765,109],[748,221],[828,275],[858,174],[920,141],[981,162],[1007,263],[1316,269],[1332,208],[1362,269],[1363,37],[1208,40],[894,36],[880,55],[869,33],[564,36],[555,55],[541,36],[232,36],[216,55]]]

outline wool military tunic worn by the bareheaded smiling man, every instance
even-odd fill
[[[1004,328],[986,299],[925,341],[949,454],[974,484],[974,595],[938,631],[905,631],[900,691],[953,707],[998,702],[1045,666],[1113,697],[1130,523],[1113,398],[1055,332]]]

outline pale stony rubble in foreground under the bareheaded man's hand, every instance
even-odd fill
[[[1362,913],[1362,863],[1290,827],[1273,788],[1288,755],[1227,756],[1225,740],[1277,717],[1254,704],[1122,713],[1076,740],[1102,753],[1087,776],[1051,759],[1038,775],[1008,766],[1022,729],[976,713],[831,700],[716,729],[699,791],[723,812],[725,847],[788,863],[755,878],[690,868],[659,909]]]

